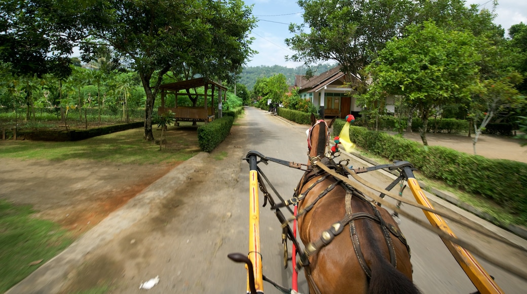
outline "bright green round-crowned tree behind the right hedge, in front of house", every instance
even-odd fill
[[[379,96],[403,95],[404,102],[419,111],[424,145],[428,117],[437,106],[469,99],[477,81],[475,38],[461,32],[444,32],[434,22],[408,27],[409,35],[394,38],[379,52],[365,72],[373,77],[365,102]]]

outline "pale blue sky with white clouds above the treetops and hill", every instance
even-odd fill
[[[255,41],[252,49],[259,53],[252,57],[248,66],[282,65],[296,67],[301,63],[286,61],[286,55],[293,52],[284,43],[286,38],[293,35],[289,33],[289,23],[302,22],[302,10],[294,0],[245,0],[246,5],[254,4],[252,14],[259,19],[257,27],[252,31]],[[492,0],[467,0],[466,5],[477,4],[481,8],[492,9]],[[527,24],[527,1],[525,0],[498,0],[497,14],[494,23],[501,25],[506,31],[513,24],[523,22]]]

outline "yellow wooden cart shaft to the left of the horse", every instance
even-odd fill
[[[257,292],[264,292],[264,280],[262,278],[262,257],[260,254],[260,210],[258,202],[258,172],[249,171],[249,259],[252,262],[255,273],[255,285]],[[249,273],[247,273],[249,275]],[[249,276],[247,276],[247,292],[249,289]]]

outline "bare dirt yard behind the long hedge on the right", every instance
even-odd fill
[[[394,134],[394,132],[388,132]],[[419,133],[405,133],[404,138],[422,143]],[[457,151],[474,154],[472,137],[460,134],[426,134],[428,145],[445,146]],[[486,158],[509,159],[527,163],[527,146],[521,146],[520,141],[496,135],[481,135],[476,144],[477,155]]]

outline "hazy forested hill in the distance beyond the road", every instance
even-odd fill
[[[315,75],[321,74],[325,71],[335,67],[336,64],[319,64],[313,66],[311,69],[315,71]],[[286,76],[287,83],[292,85],[295,82],[295,75],[306,74],[307,67],[297,66],[296,68],[290,68],[280,65],[260,65],[260,66],[245,66],[240,76],[239,83],[247,86],[248,90],[252,90],[258,77],[270,77],[275,74],[284,74]]]

